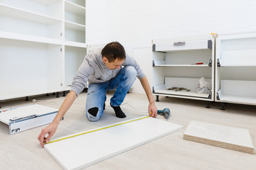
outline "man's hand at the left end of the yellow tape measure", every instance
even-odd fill
[[[58,123],[50,123],[46,128],[44,128],[38,135],[38,140],[43,147],[43,143],[48,143],[50,137],[52,137],[58,128]],[[47,135],[47,136],[46,136]]]

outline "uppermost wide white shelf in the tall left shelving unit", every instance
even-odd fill
[[[26,11],[20,8],[6,6],[3,4],[0,4],[0,14],[3,16],[11,16],[14,18],[21,18],[24,20],[33,21],[37,23],[45,23],[45,24],[57,23],[62,21],[60,18],[54,18],[51,16],[46,16],[40,13],[34,13],[31,11]]]

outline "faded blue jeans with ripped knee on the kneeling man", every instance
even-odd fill
[[[103,105],[107,100],[107,91],[116,90],[110,99],[112,106],[120,106],[124,97],[137,77],[137,71],[132,66],[124,67],[117,77],[105,83],[90,84],[87,90],[86,116],[90,121],[97,121],[103,115]]]

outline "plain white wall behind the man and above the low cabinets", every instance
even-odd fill
[[[117,40],[129,53],[136,47],[134,57],[151,79],[149,52],[142,48],[142,56],[138,47],[154,39],[256,31],[255,7],[255,0],[87,0],[86,40]],[[133,91],[143,92],[137,84]]]

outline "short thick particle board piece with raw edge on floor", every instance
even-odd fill
[[[183,139],[254,154],[252,138],[247,129],[191,121],[183,132]]]

